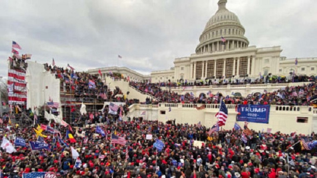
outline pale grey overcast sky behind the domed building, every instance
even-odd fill
[[[218,0],[6,0],[0,6],[0,76],[12,40],[32,60],[77,71],[124,65],[165,70],[195,52]],[[282,56],[317,57],[316,0],[228,0],[250,46],[281,46]],[[118,62],[118,55],[122,59]]]

